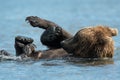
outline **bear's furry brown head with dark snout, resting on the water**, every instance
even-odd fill
[[[106,26],[84,28],[74,37],[61,42],[63,49],[80,58],[112,58],[117,29]]]

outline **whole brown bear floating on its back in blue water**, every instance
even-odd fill
[[[36,16],[29,16],[26,20],[33,27],[45,29],[40,40],[49,49],[36,51],[32,38],[17,36],[15,38],[16,56],[33,59],[53,59],[66,56],[79,58],[113,57],[114,41],[112,36],[117,35],[117,29],[96,26],[81,29],[75,36],[72,36],[51,21]],[[1,51],[2,54],[4,52]]]

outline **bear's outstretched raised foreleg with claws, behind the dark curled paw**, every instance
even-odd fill
[[[59,25],[55,24],[52,21],[41,19],[37,16],[28,16],[26,18],[26,21],[28,21],[33,27],[39,27],[42,29],[47,29],[49,27],[60,27]],[[67,31],[65,31],[64,29],[62,29],[62,33],[65,38],[72,37],[72,35],[68,33]]]

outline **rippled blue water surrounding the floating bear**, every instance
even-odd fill
[[[46,49],[39,41],[43,30],[30,27],[27,16],[51,20],[72,34],[101,24],[119,30],[119,7],[120,0],[0,0],[0,49],[15,55],[17,35],[33,38],[38,50]],[[114,37],[116,50],[110,61],[1,61],[0,80],[119,80],[119,39]]]

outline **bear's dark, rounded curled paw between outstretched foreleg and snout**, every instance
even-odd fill
[[[67,38],[63,36],[61,27],[47,28],[46,31],[43,32],[40,38],[42,44],[46,45],[50,49],[61,48],[60,42],[65,39]]]

